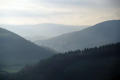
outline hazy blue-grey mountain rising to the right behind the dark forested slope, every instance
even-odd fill
[[[36,44],[59,52],[90,48],[120,41],[120,20],[104,21],[81,31],[63,34]]]

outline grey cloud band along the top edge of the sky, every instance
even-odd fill
[[[120,6],[120,0],[31,0],[36,4],[58,7],[113,8]]]

